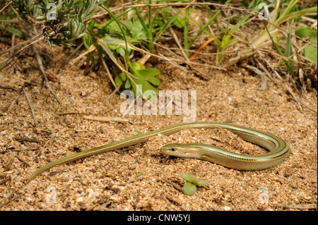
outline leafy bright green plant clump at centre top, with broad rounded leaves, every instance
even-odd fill
[[[110,13],[112,20],[105,25],[96,24],[89,28],[88,40],[84,39],[86,48],[89,49],[92,44],[97,42],[100,45],[98,50],[102,51],[99,57],[109,56],[109,59],[120,68],[122,72],[114,79],[114,85],[122,86],[126,90],[131,89],[135,96],[141,93],[143,99],[151,99],[153,95],[146,96],[144,93],[149,90],[155,94],[157,93],[155,86],[160,85],[160,80],[155,78],[155,76],[159,75],[160,71],[154,68],[145,68],[142,63],[132,61],[134,58],[134,46],[146,45],[148,50],[153,52],[153,42],[157,42],[160,35],[170,26],[180,26],[180,23],[182,23],[179,13],[171,16],[169,7],[155,11],[149,8],[147,24],[138,8],[134,8],[132,12],[129,9],[119,16],[114,16],[106,6],[102,4],[100,6]],[[127,16],[129,12],[131,14]],[[122,16],[126,16],[126,18],[119,20]],[[167,22],[165,22],[166,20]],[[96,28],[98,33],[91,35]],[[104,38],[98,39],[98,37]],[[120,60],[119,56],[124,60]]]

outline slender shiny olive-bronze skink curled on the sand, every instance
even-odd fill
[[[236,154],[234,152],[223,150],[218,147],[213,147],[212,145],[202,144],[170,144],[162,147],[161,151],[165,154],[174,155],[176,157],[195,157],[198,159],[204,159],[238,170],[268,169],[271,166],[283,162],[283,160],[288,157],[289,154],[288,144],[284,140],[278,138],[275,135],[272,135],[271,133],[266,133],[261,130],[254,130],[251,128],[245,128],[243,126],[237,126],[228,123],[180,123],[174,126],[167,126],[165,128],[153,130],[148,133],[136,135],[131,138],[126,138],[124,140],[119,140],[117,142],[112,142],[108,145],[102,145],[90,150],[71,154],[67,157],[49,162],[45,166],[40,167],[40,169],[37,169],[37,171],[35,171],[26,182],[28,183],[32,181],[37,175],[41,174],[44,171],[47,171],[48,169],[51,169],[53,166],[67,164],[69,162],[90,157],[95,154],[110,152],[112,150],[119,150],[124,147],[129,147],[131,145],[146,142],[147,140],[158,134],[171,135],[172,133],[176,133],[179,130],[189,128],[226,128],[232,131],[232,133],[238,135],[243,140],[260,145],[270,152],[252,156],[245,154]]]

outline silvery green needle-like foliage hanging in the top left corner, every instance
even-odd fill
[[[70,45],[85,34],[86,20],[93,16],[100,0],[13,0],[20,16],[42,25],[42,34],[52,44]],[[50,33],[54,31],[53,35]]]

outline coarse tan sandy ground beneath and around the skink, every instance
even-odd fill
[[[261,90],[259,76],[239,66],[206,69],[203,79],[167,61],[154,64],[162,71],[158,90],[196,90],[196,121],[234,123],[283,138],[290,156],[282,164],[264,171],[236,171],[199,159],[166,159],[159,148],[170,142],[203,142],[243,154],[265,152],[226,130],[183,130],[56,166],[25,184],[47,162],[129,138],[135,130],[182,123],[184,118],[133,115],[125,116],[125,123],[87,120],[86,115],[121,117],[124,99],[118,94],[107,99],[114,90],[107,75],[102,69],[83,75],[84,61],[55,74],[71,49],[49,49],[42,43],[39,50],[47,71],[57,78],[50,83],[62,105],[47,88],[40,88],[32,54],[20,56],[0,73],[3,87],[18,90],[29,84],[24,90],[37,120],[35,126],[24,92],[0,88],[1,210],[317,210],[317,114],[303,106],[301,112],[293,97],[271,80]],[[293,91],[298,95],[299,90]],[[316,90],[302,95],[302,100],[317,109]],[[185,172],[208,185],[184,195]]]

